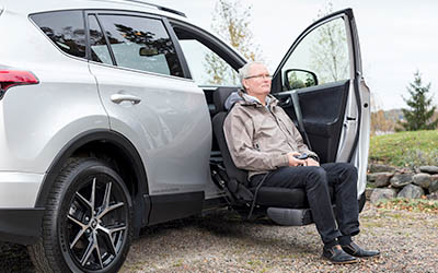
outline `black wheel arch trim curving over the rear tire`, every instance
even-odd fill
[[[56,177],[70,157],[96,157],[107,162],[124,179],[135,206],[136,204],[143,205],[142,201],[148,201],[146,200],[149,191],[145,165],[136,147],[118,132],[96,129],[77,135],[57,154],[47,169],[35,207],[45,206]],[[149,210],[148,207],[150,205],[141,209]],[[149,212],[142,213],[145,215],[141,217],[142,225],[146,224],[147,214]]]

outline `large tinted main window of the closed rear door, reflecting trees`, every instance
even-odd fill
[[[129,15],[99,15],[118,67],[183,76],[163,23]]]

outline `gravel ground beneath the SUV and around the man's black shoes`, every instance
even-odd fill
[[[438,272],[438,214],[376,209],[360,214],[360,246],[379,258],[333,265],[314,225],[242,222],[220,212],[147,228],[122,272]],[[25,249],[0,245],[0,272],[33,272]]]

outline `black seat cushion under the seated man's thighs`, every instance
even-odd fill
[[[328,187],[330,195],[333,199],[333,188]],[[255,192],[255,188],[251,189]],[[290,209],[308,209],[309,202],[304,189],[287,189],[279,187],[261,187],[256,204],[262,206],[277,206]]]

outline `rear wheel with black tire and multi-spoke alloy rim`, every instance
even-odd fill
[[[132,238],[123,179],[95,158],[70,161],[48,195],[41,240],[28,247],[38,272],[117,272]]]

